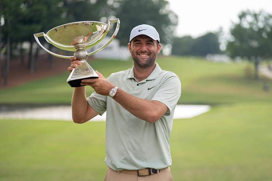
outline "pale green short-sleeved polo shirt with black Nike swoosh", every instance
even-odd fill
[[[130,95],[162,102],[168,111],[155,123],[149,123],[129,113],[109,96],[94,92],[88,97],[88,103],[100,115],[107,110],[107,166],[116,171],[171,166],[169,138],[174,110],[181,94],[179,77],[161,70],[156,64],[153,72],[141,82],[134,78],[133,68],[113,73],[108,80]]]

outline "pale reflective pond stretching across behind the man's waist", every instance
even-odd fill
[[[198,116],[211,109],[209,105],[177,105],[174,119]],[[0,119],[38,119],[72,121],[70,105],[0,105]],[[105,121],[106,113],[92,121]]]

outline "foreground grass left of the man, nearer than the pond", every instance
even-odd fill
[[[103,180],[105,122],[0,120],[0,180]]]

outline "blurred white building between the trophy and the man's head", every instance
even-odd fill
[[[88,53],[97,50],[109,41],[109,37],[105,37],[100,43],[93,48],[87,50]],[[118,39],[113,39],[112,42],[103,50],[92,55],[97,59],[114,59],[114,60],[129,60],[131,57],[127,46],[120,46]]]

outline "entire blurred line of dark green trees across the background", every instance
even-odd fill
[[[47,32],[61,24],[75,21],[101,21],[119,18],[121,22],[117,39],[126,46],[131,29],[139,24],[150,24],[160,34],[165,54],[206,56],[226,54],[232,59],[241,57],[257,67],[261,60],[272,56],[271,14],[260,11],[242,11],[239,22],[229,30],[230,37],[223,32],[209,32],[192,38],[175,35],[177,15],[166,0],[1,0],[0,1],[0,80],[8,84],[10,61],[13,57],[25,58],[29,71],[37,69],[40,47],[34,46],[34,33]],[[200,27],[201,28],[201,27]],[[46,43],[41,40],[42,43]],[[23,46],[27,43],[29,46]],[[47,43],[46,43],[47,44]],[[48,47],[51,50],[51,45]],[[48,61],[52,61],[48,55]],[[53,64],[51,63],[53,66]],[[1,82],[0,82],[1,83]],[[0,84],[1,85],[1,84]]]

